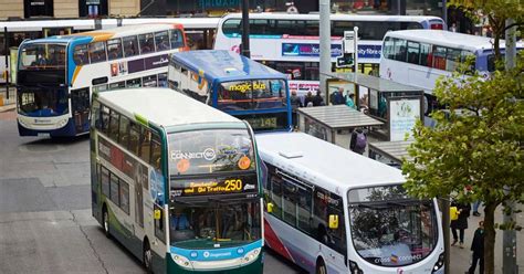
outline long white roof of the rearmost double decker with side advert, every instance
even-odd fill
[[[229,18],[242,18],[242,13],[230,13],[223,17],[222,20]],[[261,12],[261,13],[250,13],[250,19],[290,19],[290,20],[318,20],[319,15],[317,13],[311,14],[300,14],[300,13],[284,13],[284,12]],[[428,15],[361,15],[361,14],[340,14],[335,13],[331,14],[329,19],[332,21],[389,21],[389,22],[420,22],[423,20],[439,20],[442,21],[439,17],[428,17]]]

